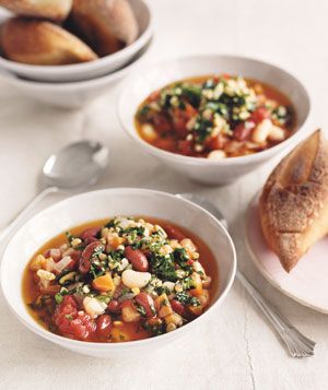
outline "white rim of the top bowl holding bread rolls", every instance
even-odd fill
[[[141,2],[144,3],[148,12],[149,12],[149,23],[145,29],[139,35],[139,37],[129,46],[124,47],[121,50],[114,52],[113,55],[108,55],[102,58],[98,58],[94,61],[91,62],[82,62],[82,63],[70,63],[70,64],[63,64],[63,66],[37,66],[37,64],[30,64],[30,63],[20,63],[15,61],[11,61],[2,56],[0,56],[0,62],[2,61],[3,63],[8,63],[9,67],[14,67],[16,71],[26,71],[26,70],[33,70],[33,71],[39,71],[43,73],[52,73],[54,71],[58,72],[58,74],[73,74],[77,71],[80,71],[82,69],[86,69],[90,67],[90,64],[94,63],[102,63],[102,62],[107,62],[108,60],[116,61],[119,60],[122,57],[126,57],[128,54],[138,51],[141,49],[151,38],[153,35],[153,15],[152,15],[152,10],[150,4],[145,0],[140,0]]]

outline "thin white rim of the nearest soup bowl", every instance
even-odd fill
[[[172,339],[172,335],[177,335],[181,332],[185,332],[186,329],[189,329],[190,327],[195,326],[196,323],[199,322],[199,320],[203,319],[204,317],[208,317],[209,312],[211,312],[215,306],[218,306],[222,300],[224,300],[224,298],[226,297],[226,295],[229,294],[233,282],[234,282],[234,277],[236,274],[236,268],[237,268],[237,258],[236,258],[236,251],[235,251],[235,247],[233,244],[233,240],[230,236],[230,234],[227,233],[227,231],[225,229],[225,227],[221,224],[221,222],[219,220],[216,220],[211,213],[209,213],[207,210],[204,210],[203,208],[199,206],[198,204],[195,204],[186,199],[181,199],[181,198],[176,198],[174,194],[168,193],[168,192],[163,192],[163,191],[156,191],[156,190],[150,190],[150,189],[139,189],[139,188],[115,188],[115,189],[105,189],[105,190],[97,190],[97,191],[90,191],[90,192],[84,192],[74,197],[70,197],[66,200],[62,200],[60,202],[57,202],[56,204],[40,211],[39,213],[37,213],[36,215],[34,215],[30,221],[33,221],[34,218],[37,218],[39,215],[42,215],[45,211],[55,211],[56,209],[60,208],[63,203],[66,203],[68,200],[74,200],[77,202],[79,202],[79,199],[83,198],[83,197],[87,197],[90,193],[92,194],[97,194],[101,192],[106,192],[106,191],[110,191],[112,193],[115,192],[129,192],[129,194],[133,194],[133,193],[152,193],[152,194],[162,194],[165,197],[169,197],[169,198],[174,198],[174,199],[179,199],[180,201],[188,203],[189,205],[191,205],[195,209],[201,210],[203,213],[206,213],[216,225],[220,226],[220,228],[225,233],[225,237],[227,238],[227,241],[230,244],[230,247],[232,249],[232,253],[233,253],[233,259],[232,259],[232,270],[230,272],[229,275],[229,282],[226,284],[225,289],[220,294],[220,296],[216,298],[216,300],[198,318],[196,318],[194,321],[186,323],[185,326],[176,329],[174,332],[169,332],[169,333],[164,333],[161,335],[156,335],[153,338],[149,338],[149,339],[144,339],[144,340],[136,340],[136,341],[129,341],[126,343],[95,343],[95,342],[85,342],[85,341],[79,341],[79,340],[71,340],[71,339],[67,339],[60,335],[57,335],[55,333],[51,333],[50,331],[47,331],[46,329],[44,329],[42,326],[37,324],[37,322],[35,321],[35,319],[32,319],[31,322],[26,322],[24,320],[24,318],[20,315],[19,311],[16,311],[11,305],[10,302],[7,297],[7,292],[3,289],[2,287],[2,283],[1,283],[1,289],[2,289],[2,294],[5,298],[7,305],[9,306],[10,310],[19,318],[19,320],[24,323],[30,330],[32,330],[33,332],[35,332],[36,334],[40,335],[42,338],[52,341],[56,344],[60,344],[60,345],[71,345],[71,346],[85,346],[85,348],[87,347],[92,347],[94,348],[95,346],[99,350],[110,350],[110,351],[115,351],[115,350],[128,350],[134,346],[151,346],[152,344],[154,344],[156,342],[156,340],[159,338],[161,338],[161,341],[165,341]],[[24,225],[21,226],[21,228],[17,231],[21,232],[22,229],[24,229]],[[16,234],[17,234],[16,233]],[[7,248],[10,246],[11,240],[15,237],[15,235],[10,239],[9,244],[7,245]],[[2,256],[2,258],[5,258],[5,253],[7,253],[7,248],[4,250],[4,253]],[[3,261],[1,262],[1,268],[0,268],[0,282],[2,281],[3,277]],[[20,292],[21,293],[21,292]],[[178,332],[178,333],[177,333]]]

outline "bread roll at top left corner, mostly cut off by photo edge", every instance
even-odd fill
[[[70,13],[73,0],[0,0],[0,5],[20,15],[60,22]]]

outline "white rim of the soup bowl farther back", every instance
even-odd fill
[[[153,154],[159,154],[162,156],[166,156],[172,161],[175,161],[176,163],[188,163],[190,165],[202,165],[202,166],[224,166],[224,165],[231,165],[231,164],[235,164],[235,165],[243,165],[243,164],[247,164],[247,163],[251,163],[251,162],[256,162],[259,159],[265,158],[267,155],[270,155],[272,153],[278,152],[280,149],[283,149],[285,146],[288,146],[291,143],[296,144],[298,142],[300,139],[302,139],[302,135],[306,132],[306,125],[309,120],[311,117],[311,111],[312,111],[312,106],[311,106],[311,97],[309,94],[307,92],[308,88],[305,87],[304,82],[300,81],[298,78],[294,76],[291,72],[282,69],[281,67],[273,64],[272,62],[268,62],[268,61],[263,61],[261,59],[257,59],[254,57],[246,57],[246,56],[234,56],[234,55],[215,55],[215,54],[209,54],[209,55],[196,55],[196,56],[186,56],[186,57],[179,57],[177,59],[173,59],[173,60],[166,60],[164,62],[157,63],[157,64],[153,64],[151,68],[157,68],[157,67],[165,67],[165,64],[169,64],[173,61],[191,61],[194,59],[204,59],[204,58],[226,58],[226,59],[231,59],[231,60],[246,60],[246,61],[253,61],[255,63],[258,64],[266,64],[269,66],[273,69],[276,69],[277,71],[284,73],[285,75],[288,75],[291,80],[293,80],[296,84],[300,85],[300,88],[303,91],[304,96],[307,99],[307,106],[308,106],[308,111],[306,115],[306,118],[304,120],[304,122],[301,125],[301,128],[296,128],[296,130],[294,131],[294,133],[288,138],[285,141],[269,147],[265,151],[261,152],[257,152],[254,154],[249,154],[246,156],[238,156],[238,157],[229,157],[229,158],[222,158],[222,159],[210,159],[210,158],[202,158],[202,157],[191,157],[191,156],[185,156],[181,154],[177,154],[177,153],[172,153],[172,152],[167,152],[163,149],[153,146],[152,144],[148,143],[147,141],[144,141],[141,137],[139,137],[139,134],[137,133],[137,129],[134,128],[134,131],[132,131],[131,129],[127,128],[125,126],[125,120],[124,118],[124,111],[122,111],[122,106],[125,105],[125,92],[129,88],[131,82],[134,80],[136,74],[131,75],[127,81],[126,84],[122,88],[122,92],[120,94],[120,97],[118,99],[118,117],[119,117],[119,121],[121,127],[126,130],[126,132],[130,135],[130,138],[132,138],[133,140],[136,140],[139,144],[141,144],[144,147],[150,149]],[[197,75],[201,75],[201,74],[195,74],[195,76]],[[174,82],[175,80],[172,80],[172,82]],[[165,85],[163,85],[165,86]],[[274,86],[274,85],[272,85]],[[140,102],[141,103],[141,102]],[[295,107],[296,108],[296,107]]]

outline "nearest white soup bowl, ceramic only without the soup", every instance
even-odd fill
[[[204,264],[208,274],[211,273],[213,279],[210,306],[202,315],[183,327],[145,340],[125,343],[90,342],[71,340],[50,332],[32,317],[24,298],[26,286],[23,286],[22,295],[22,280],[26,276],[26,272],[32,272],[26,268],[28,260],[46,241],[72,226],[90,221],[110,218],[118,213],[121,215],[144,215],[144,220],[147,216],[151,216],[160,221],[169,221],[183,229],[192,231],[194,235],[206,243],[208,250],[213,253],[213,263],[210,267]],[[51,243],[54,245],[54,241]],[[201,255],[201,250],[199,252]],[[51,256],[55,258],[56,253],[54,252]],[[57,262],[56,267],[59,263]],[[174,194],[147,189],[120,188],[86,192],[69,198],[42,211],[25,223],[15,233],[4,251],[1,263],[1,287],[12,312],[36,334],[78,353],[115,358],[141,352],[149,353],[154,348],[171,344],[174,340],[191,333],[195,329],[204,328],[206,331],[207,322],[211,318],[213,319],[211,315],[216,312],[215,310],[230,292],[235,271],[236,255],[233,241],[221,223],[206,210]],[[125,276],[122,276],[124,279]]]

